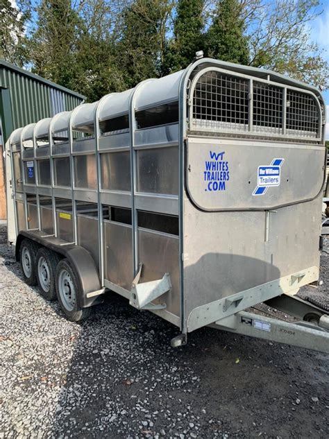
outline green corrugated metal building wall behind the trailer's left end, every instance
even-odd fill
[[[85,96],[0,60],[0,127],[3,144],[12,130],[73,110]]]

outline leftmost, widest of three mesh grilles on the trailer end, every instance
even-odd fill
[[[219,71],[203,74],[194,90],[193,118],[198,128],[248,128],[248,80]]]

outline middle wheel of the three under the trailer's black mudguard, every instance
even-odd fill
[[[35,257],[37,284],[42,297],[47,300],[56,300],[56,268],[60,257],[58,253],[41,247]]]

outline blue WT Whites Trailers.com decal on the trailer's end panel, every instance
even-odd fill
[[[206,182],[205,191],[226,191],[226,182],[230,180],[228,162],[224,160],[225,151],[213,153],[209,151],[210,160],[205,161],[203,180]]]

